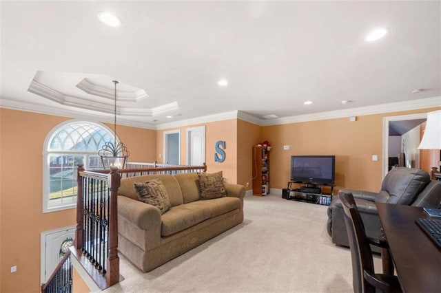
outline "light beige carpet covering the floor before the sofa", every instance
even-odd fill
[[[326,209],[247,195],[242,224],[145,274],[121,257],[124,279],[105,292],[353,292],[351,254],[331,243]]]

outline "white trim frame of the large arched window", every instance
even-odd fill
[[[54,153],[59,153],[59,154],[70,154],[70,155],[74,155],[74,154],[87,154],[87,153],[83,153],[83,152],[75,152],[75,151],[54,151],[54,152],[49,152],[48,151],[48,144],[52,138],[52,135],[54,135],[54,133],[56,133],[57,131],[59,131],[59,129],[65,127],[65,125],[67,124],[72,124],[72,123],[76,123],[76,122],[88,122],[91,124],[96,124],[99,127],[102,127],[103,129],[105,129],[106,131],[108,131],[111,136],[113,137],[113,130],[110,129],[109,127],[107,127],[105,124],[102,124],[100,122],[96,122],[96,121],[92,121],[92,120],[85,120],[85,119],[70,119],[70,120],[66,120],[64,122],[61,122],[59,124],[57,124],[55,127],[53,127],[48,135],[46,135],[46,138],[44,140],[43,143],[43,213],[52,213],[52,212],[57,212],[59,210],[68,210],[71,208],[76,208],[76,204],[66,204],[64,206],[57,206],[54,208],[49,208],[48,207],[48,203],[49,203],[49,194],[50,194],[50,189],[49,189],[49,181],[48,181],[48,177],[49,177],[49,155],[52,155]],[[119,142],[119,138],[116,137],[116,141]],[[92,154],[92,153],[89,153]],[[98,153],[96,153],[96,155],[98,155]]]

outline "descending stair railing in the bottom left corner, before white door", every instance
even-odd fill
[[[41,285],[41,293],[72,292],[72,261],[70,250],[64,254],[48,281]]]

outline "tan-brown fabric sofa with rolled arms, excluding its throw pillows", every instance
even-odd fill
[[[139,201],[134,182],[159,178],[171,208]],[[225,184],[226,197],[200,199],[197,173],[145,175],[121,180],[118,191],[118,250],[143,272],[178,257],[243,221],[245,187]]]

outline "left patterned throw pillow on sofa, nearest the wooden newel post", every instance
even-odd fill
[[[161,215],[170,209],[171,204],[167,190],[163,182],[158,178],[142,183],[134,182],[134,187],[139,200],[156,206],[161,211]]]

